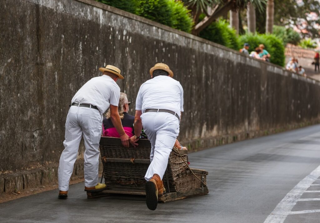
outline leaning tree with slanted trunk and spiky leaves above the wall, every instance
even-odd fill
[[[196,24],[192,33],[198,35],[201,30],[220,16],[227,14],[228,11],[242,10],[249,2],[262,10],[267,0],[183,0],[183,2],[191,10],[192,18]],[[208,13],[208,7],[211,9],[210,13]],[[206,17],[198,22],[201,13],[204,13]]]

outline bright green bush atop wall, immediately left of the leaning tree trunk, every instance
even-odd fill
[[[190,10],[181,1],[168,0],[168,4],[172,8],[172,28],[191,33],[193,19]]]

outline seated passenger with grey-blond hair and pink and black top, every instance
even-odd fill
[[[129,111],[130,102],[128,102],[127,94],[121,92],[119,105],[118,105],[118,112],[121,118],[121,123],[124,129],[124,132],[129,135],[129,137],[133,136],[133,122],[134,116],[129,115],[127,112]],[[112,121],[110,119],[110,109],[108,109],[106,113],[106,118],[102,121],[102,136],[108,137],[116,137],[120,138],[119,133],[117,132],[116,128],[113,126]]]

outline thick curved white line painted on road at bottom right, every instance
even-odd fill
[[[282,223],[286,217],[291,214],[294,205],[297,204],[301,195],[320,177],[320,165],[312,171],[308,176],[301,180],[276,206],[264,223]],[[314,185],[314,184],[312,184]],[[313,199],[313,198],[311,198]],[[320,199],[319,199],[320,200]],[[309,213],[309,212],[307,212]]]

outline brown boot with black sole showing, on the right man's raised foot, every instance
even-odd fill
[[[147,207],[154,211],[158,205],[158,189],[161,187],[161,179],[158,174],[153,174],[150,181],[146,182],[146,203]],[[163,193],[163,189],[162,189]]]

